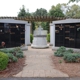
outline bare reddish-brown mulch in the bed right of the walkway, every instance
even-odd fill
[[[51,56],[56,69],[67,73],[70,77],[80,77],[80,63],[65,63],[63,58]]]

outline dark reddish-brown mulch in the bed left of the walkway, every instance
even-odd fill
[[[9,63],[4,71],[0,71],[0,77],[12,77],[20,72],[24,67],[25,57],[18,59],[18,62]]]

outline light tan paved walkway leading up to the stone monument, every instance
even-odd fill
[[[56,70],[50,58],[53,55],[51,48],[32,49],[24,51],[26,56],[25,66],[14,77],[68,77],[67,74]]]

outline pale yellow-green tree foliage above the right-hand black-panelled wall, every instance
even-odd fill
[[[57,4],[56,7],[52,6],[51,10],[57,11],[57,9],[60,9],[62,11],[62,14],[64,14],[65,17],[80,17],[80,6],[79,5],[74,4],[70,6],[65,3]],[[55,14],[53,11],[52,13]],[[60,13],[58,13],[58,16],[56,17],[61,17],[59,15]]]

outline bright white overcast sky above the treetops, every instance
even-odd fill
[[[51,9],[52,5],[58,3],[68,3],[69,0],[1,0],[0,1],[0,16],[16,17],[22,5],[29,12],[35,12],[37,8],[44,8],[47,11]],[[72,5],[74,3],[71,3]],[[78,3],[80,4],[80,2]]]

